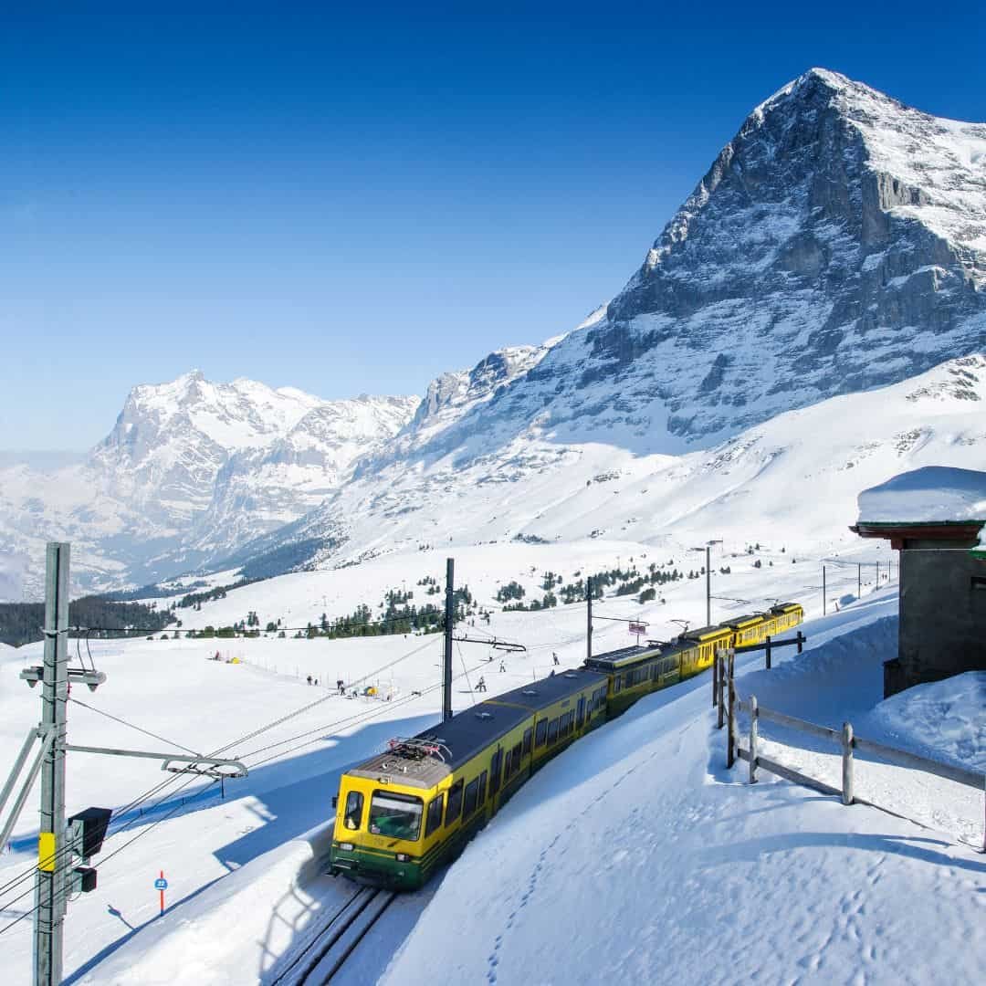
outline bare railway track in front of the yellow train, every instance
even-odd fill
[[[271,986],[321,986],[331,982],[395,897],[392,891],[375,887],[355,890],[312,941],[271,980]]]

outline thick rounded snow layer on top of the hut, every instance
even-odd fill
[[[859,524],[986,523],[986,472],[929,465],[859,495]]]

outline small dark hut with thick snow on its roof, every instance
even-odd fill
[[[851,530],[900,552],[900,638],[883,696],[986,670],[986,472],[928,466],[865,490]]]

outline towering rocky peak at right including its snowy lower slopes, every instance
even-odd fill
[[[778,415],[817,405],[809,432],[785,432],[772,459],[789,462],[810,438],[812,473],[842,469],[875,450],[928,446],[919,413],[928,388],[956,401],[961,444],[939,435],[931,446],[960,465],[982,454],[976,415],[965,416],[976,405],[965,401],[983,395],[983,352],[986,125],[938,119],[812,69],[753,110],[607,307],[529,351],[530,365],[516,361],[484,399],[457,399],[476,371],[437,381],[394,446],[399,468],[393,455],[364,462],[332,501],[257,548],[326,538],[317,557],[330,563],[440,531],[570,536],[547,519],[576,501],[586,503],[582,533],[648,515],[667,525],[696,510],[699,489],[708,523],[721,526],[740,496],[722,463],[758,462],[763,427]],[[914,387],[892,387],[940,365]],[[876,387],[896,401],[885,429],[872,400],[832,401]],[[829,414],[847,442],[871,451],[829,448]],[[641,463],[661,460],[648,457],[696,449],[711,451],[674,460],[662,481],[667,509],[655,510],[653,485],[627,516],[611,500],[602,511],[587,502],[597,474],[653,471]],[[794,475],[774,473],[782,482],[767,495],[789,495]],[[452,500],[455,512],[444,509]],[[827,528],[841,523],[830,516]]]

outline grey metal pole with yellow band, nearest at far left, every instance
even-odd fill
[[[35,874],[35,986],[62,981],[62,931],[65,921],[65,709],[68,705],[68,561],[69,546],[47,546],[44,580],[44,665],[41,676],[40,728],[52,739],[41,761],[41,817]]]

